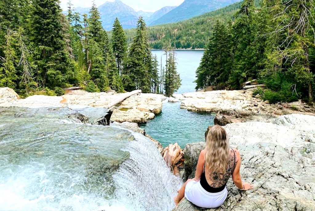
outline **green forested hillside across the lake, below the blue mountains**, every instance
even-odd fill
[[[169,46],[177,49],[205,48],[212,34],[216,20],[226,24],[234,19],[236,12],[241,7],[240,2],[229,5],[198,17],[177,23],[169,23],[148,27],[150,47],[153,49],[164,49]],[[125,30],[127,42],[131,43],[135,36],[135,29]],[[111,32],[109,32],[111,37]]]

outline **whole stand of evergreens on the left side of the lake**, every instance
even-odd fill
[[[22,97],[62,95],[70,86],[91,92],[159,90],[142,18],[127,53],[119,20],[109,42],[95,3],[83,22],[71,7],[63,15],[56,0],[2,0],[0,14],[0,87]]]

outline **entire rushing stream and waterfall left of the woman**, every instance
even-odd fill
[[[180,180],[138,133],[0,108],[0,210],[171,210]]]

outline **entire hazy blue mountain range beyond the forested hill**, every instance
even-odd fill
[[[186,20],[209,11],[223,8],[240,0],[185,0],[180,6],[166,6],[156,12],[138,11],[124,4],[120,0],[106,1],[98,7],[102,26],[105,30],[112,30],[112,25],[117,17],[124,29],[135,28],[139,16],[142,16],[148,26],[173,23]],[[77,7],[74,12],[89,14],[90,8]],[[63,12],[64,14],[67,11]]]

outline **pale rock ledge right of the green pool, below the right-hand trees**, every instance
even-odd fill
[[[301,101],[269,104],[259,96],[253,97],[254,89],[219,90],[175,94],[171,102],[181,101],[180,108],[194,112],[217,113],[217,124],[246,121],[266,121],[285,114],[315,114],[315,108]],[[223,118],[223,119],[222,119]]]

